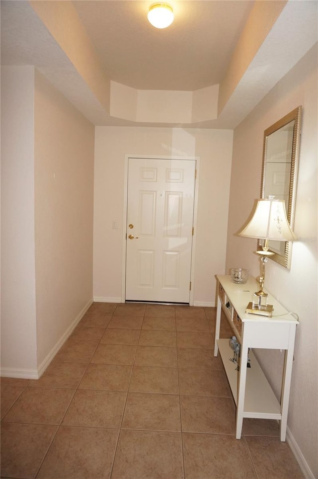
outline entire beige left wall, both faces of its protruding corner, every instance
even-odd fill
[[[34,378],[92,301],[94,127],[1,67],[1,376]]]

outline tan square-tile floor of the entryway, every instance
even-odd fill
[[[1,478],[303,478],[275,421],[235,439],[214,320],[94,303],[39,380],[1,379]]]

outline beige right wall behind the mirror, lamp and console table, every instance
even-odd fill
[[[302,138],[291,269],[273,261],[266,265],[265,287],[300,317],[289,409],[289,440],[318,477],[317,355],[317,45],[297,64],[234,132],[229,209],[227,268],[242,266],[254,276],[259,262],[256,240],[235,237],[259,197],[263,131],[299,105],[303,106]],[[261,351],[266,374],[279,394],[283,353]],[[296,441],[294,443],[293,441]],[[299,449],[298,449],[299,448]]]

